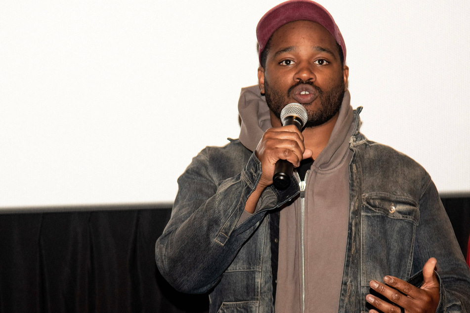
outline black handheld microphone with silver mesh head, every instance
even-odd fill
[[[281,111],[282,126],[296,125],[300,131],[307,122],[307,118],[307,110],[299,103],[289,103]],[[286,189],[291,183],[293,170],[294,165],[288,160],[277,160],[272,177],[274,187],[279,190]]]

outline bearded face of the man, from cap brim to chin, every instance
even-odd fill
[[[321,125],[338,114],[347,82],[336,40],[320,24],[294,21],[271,37],[265,68],[258,82],[269,109],[280,118],[291,102],[308,113],[306,127]]]

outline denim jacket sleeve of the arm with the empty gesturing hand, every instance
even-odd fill
[[[437,259],[440,282],[440,301],[436,312],[470,312],[470,269],[436,187],[428,179],[420,201],[413,271],[421,271],[430,257]]]

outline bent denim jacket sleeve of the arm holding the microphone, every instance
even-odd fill
[[[181,292],[204,293],[214,287],[266,211],[297,193],[266,188],[256,213],[237,224],[261,176],[261,163],[253,153],[241,172],[226,178],[226,172],[236,172],[237,165],[227,170],[229,164],[206,148],[178,179],[171,219],[156,242],[155,258],[161,274]]]

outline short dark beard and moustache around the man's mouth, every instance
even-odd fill
[[[342,79],[340,79],[337,85],[326,92],[320,87],[315,86],[311,81],[299,81],[287,90],[287,98],[292,98],[292,90],[300,84],[311,85],[318,91],[318,98],[320,99],[320,107],[317,110],[312,111],[305,108],[308,115],[305,127],[323,125],[340,111],[342,98],[344,96],[344,81]],[[288,103],[285,103],[286,98],[282,95],[281,91],[275,89],[271,90],[266,78],[264,78],[264,95],[266,96],[269,109],[280,119],[281,111]]]

